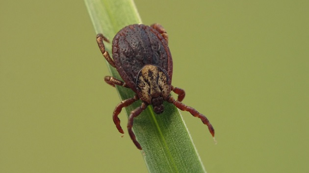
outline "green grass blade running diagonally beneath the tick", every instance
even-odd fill
[[[141,23],[133,0],[85,0],[85,3],[96,33],[103,33],[110,41],[124,26]],[[111,45],[105,43],[105,46],[111,54]],[[100,51],[99,48],[98,51]],[[110,65],[108,67],[112,76],[121,79],[115,68]],[[133,91],[128,88],[117,86],[116,89],[121,100],[134,95]],[[141,101],[137,101],[123,111],[126,111],[129,116],[130,111],[140,104]],[[179,110],[167,102],[164,103],[164,108],[165,111],[162,114],[156,115],[152,106],[148,106],[141,115],[134,119],[133,130],[143,148],[143,157],[149,172],[206,172]],[[126,127],[126,121],[122,121],[122,127]],[[127,132],[126,129],[124,130]]]

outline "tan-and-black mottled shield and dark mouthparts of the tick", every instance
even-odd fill
[[[154,112],[163,112],[163,101],[171,93],[171,80],[166,71],[156,65],[145,65],[136,79],[138,97],[149,105],[153,105]]]

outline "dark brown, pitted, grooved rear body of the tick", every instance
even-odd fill
[[[127,85],[137,92],[135,83],[139,71],[145,65],[162,67],[172,80],[171,52],[162,35],[154,28],[134,24],[121,29],[113,39],[112,55],[117,71]]]

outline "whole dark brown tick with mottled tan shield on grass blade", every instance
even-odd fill
[[[130,88],[136,93],[132,98],[119,103],[114,109],[113,121],[120,133],[124,133],[118,118],[121,109],[139,99],[142,100],[141,106],[131,111],[127,126],[130,138],[139,150],[142,150],[142,147],[132,131],[133,119],[149,105],[153,106],[156,114],[162,113],[163,101],[200,118],[214,137],[214,129],[206,116],[181,103],[185,96],[184,90],[171,85],[173,60],[168,47],[168,35],[160,24],[155,23],[151,26],[132,24],[121,29],[112,42],[113,59],[105,51],[103,41],[109,43],[107,38],[98,34],[97,43],[104,58],[117,69],[124,82],[112,76],[105,76],[104,81],[111,86]],[[170,94],[171,91],[178,94],[177,100]]]

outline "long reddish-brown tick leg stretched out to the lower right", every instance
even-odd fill
[[[168,102],[173,103],[177,108],[179,108],[182,111],[188,111],[191,113],[191,115],[193,115],[194,117],[198,117],[202,120],[202,122],[207,125],[209,132],[211,133],[212,137],[214,138],[214,129],[212,127],[212,125],[210,124],[209,120],[206,118],[206,116],[204,116],[203,114],[201,114],[200,112],[198,112],[197,110],[195,110],[192,107],[186,106],[183,103],[181,103],[180,101],[176,101],[172,96],[170,96]]]

